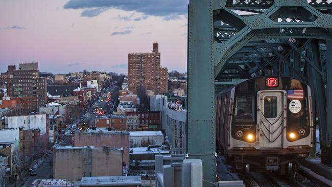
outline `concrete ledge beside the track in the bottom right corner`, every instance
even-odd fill
[[[303,161],[302,165],[306,168],[311,169],[318,175],[323,176],[326,179],[332,180],[332,168],[322,165],[320,163],[320,157],[306,158]]]

